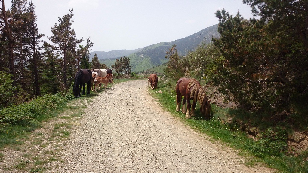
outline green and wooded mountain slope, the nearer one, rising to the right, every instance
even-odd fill
[[[179,55],[186,55],[189,50],[194,50],[201,42],[204,41],[209,43],[212,41],[212,37],[220,37],[217,27],[218,24],[207,27],[196,34],[173,42],[160,42],[151,46],[146,46],[139,51],[126,56],[129,58],[132,65],[131,71],[141,72],[168,62],[168,59],[165,58],[166,51],[168,51],[174,44],[176,44],[176,50]],[[105,63],[107,66],[111,66],[111,64],[114,64],[115,59],[116,58],[100,59],[100,62]]]

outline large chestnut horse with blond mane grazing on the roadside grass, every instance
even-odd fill
[[[185,118],[191,118],[195,116],[195,107],[197,101],[200,102],[200,110],[205,116],[205,118],[209,119],[211,115],[211,104],[210,99],[206,96],[203,88],[201,87],[200,83],[196,81],[196,79],[190,78],[180,78],[176,82],[176,111],[180,111],[180,105],[182,100],[182,95],[184,96],[183,99],[183,107],[182,113],[185,114]],[[187,110],[185,108],[185,103],[187,100]],[[190,111],[190,100],[193,100],[192,110]]]

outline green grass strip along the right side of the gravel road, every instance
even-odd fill
[[[161,90],[163,93],[156,93]],[[185,114],[176,112],[176,92],[175,83],[158,82],[158,89],[149,89],[151,95],[158,99],[158,102],[169,111],[173,116],[178,117],[185,125],[193,128],[195,131],[204,133],[210,136],[212,143],[220,141],[226,146],[237,150],[238,155],[246,158],[247,166],[267,165],[269,168],[277,169],[283,173],[306,173],[308,172],[308,151],[299,153],[298,156],[287,155],[285,153],[276,153],[276,155],[268,154],[271,148],[265,148],[264,152],[256,150],[260,143],[250,138],[246,132],[241,131],[241,128],[236,123],[223,123],[222,119],[227,114],[237,115],[244,119],[247,118],[247,113],[241,110],[222,109],[216,105],[212,105],[210,120],[206,120],[201,115],[200,105],[197,102],[196,116],[192,119],[185,119]],[[260,120],[261,121],[261,120]],[[265,125],[264,128],[270,125]]]

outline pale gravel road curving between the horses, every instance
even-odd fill
[[[147,86],[123,82],[95,97],[64,141],[64,163],[47,172],[273,172],[246,167],[229,148],[184,126]]]

